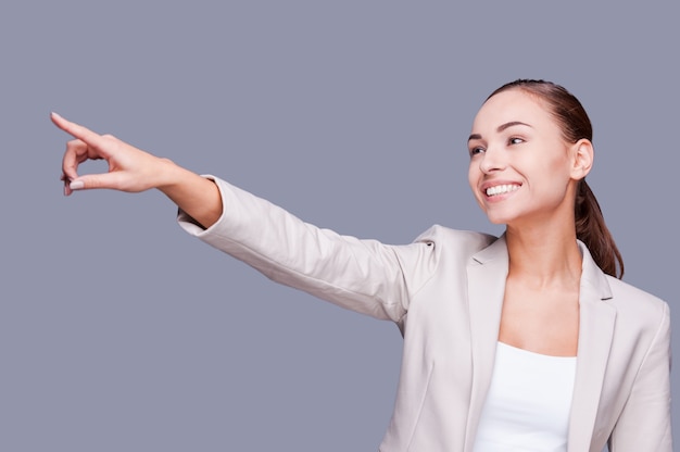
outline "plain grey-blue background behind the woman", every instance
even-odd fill
[[[471,120],[552,79],[594,123],[625,279],[677,326],[677,3],[453,3],[3,1],[0,450],[372,451],[399,373],[393,325],[198,242],[160,193],[64,198],[52,110],[403,243],[500,231],[467,187]]]

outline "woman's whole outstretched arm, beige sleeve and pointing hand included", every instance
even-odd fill
[[[97,188],[128,192],[156,188],[178,205],[186,230],[277,282],[350,310],[401,322],[412,293],[427,284],[437,268],[432,239],[396,247],[341,236],[304,223],[224,180],[204,178],[110,135],[96,134],[56,114],[52,122],[75,137],[63,160],[66,194]],[[78,175],[81,163],[101,159],[109,163],[108,172]],[[228,215],[223,215],[223,210]]]

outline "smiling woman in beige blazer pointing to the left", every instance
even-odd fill
[[[494,91],[469,183],[500,237],[433,226],[386,246],[305,224],[53,114],[73,135],[65,193],[158,188],[180,225],[267,277],[398,324],[404,355],[381,451],[670,451],[669,314],[624,266],[584,177],[579,101],[543,80]],[[78,176],[105,159],[106,174]]]

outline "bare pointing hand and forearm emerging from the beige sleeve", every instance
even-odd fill
[[[219,190],[212,180],[111,135],[99,135],[56,113],[52,113],[51,120],[56,127],[75,138],[66,145],[62,162],[65,194],[97,188],[128,192],[156,188],[204,228],[222,215]],[[80,163],[101,159],[109,163],[108,173],[78,175]]]

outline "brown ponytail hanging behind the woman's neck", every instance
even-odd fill
[[[624,259],[604,223],[600,204],[585,179],[576,190],[576,237],[585,243],[597,266],[607,275],[624,276]]]

